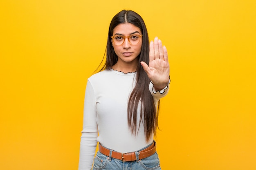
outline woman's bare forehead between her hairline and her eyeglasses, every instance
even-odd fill
[[[141,30],[139,27],[131,24],[131,23],[124,23],[124,24],[118,24],[113,29],[113,35],[115,34],[122,34],[122,35],[130,35],[131,33],[134,33],[135,31],[138,31],[141,34]]]

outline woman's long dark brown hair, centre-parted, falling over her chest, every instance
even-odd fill
[[[111,69],[112,66],[117,63],[118,57],[112,46],[111,36],[113,34],[113,29],[115,29],[117,25],[123,23],[130,23],[139,27],[143,35],[141,53],[138,56],[139,62],[136,69],[136,85],[131,92],[128,100],[128,126],[132,134],[136,135],[139,130],[139,128],[137,129],[137,109],[140,105],[141,109],[139,125],[141,122],[143,122],[145,138],[146,141],[149,141],[153,134],[156,135],[160,103],[158,101],[158,105],[155,105],[153,96],[148,90],[150,79],[148,78],[146,72],[140,64],[141,61],[144,61],[146,64],[149,63],[149,39],[148,31],[146,29],[144,20],[136,12],[130,10],[123,10],[117,13],[117,15],[115,15],[112,19],[108,30],[108,42],[105,52],[106,62],[99,71]],[[103,60],[101,61],[101,63],[102,62]]]

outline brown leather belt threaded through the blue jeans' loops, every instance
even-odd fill
[[[139,151],[139,159],[150,157],[156,152],[156,150],[157,150],[157,145],[154,141],[152,145],[148,146],[148,148]],[[110,150],[105,148],[104,146],[101,146],[101,144],[99,144],[99,151],[106,156],[109,156],[110,154]],[[135,152],[121,153],[121,152],[112,151],[112,158],[120,159],[124,162],[135,161],[136,155],[135,155]]]

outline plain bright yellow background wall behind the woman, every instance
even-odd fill
[[[168,49],[162,170],[256,170],[255,0],[1,0],[0,169],[78,168],[85,85],[122,9]]]

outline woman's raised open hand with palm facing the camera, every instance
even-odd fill
[[[162,46],[162,41],[156,37],[149,44],[149,64],[141,62],[141,66],[148,78],[154,84],[155,90],[162,90],[169,82],[170,66],[167,49]]]

